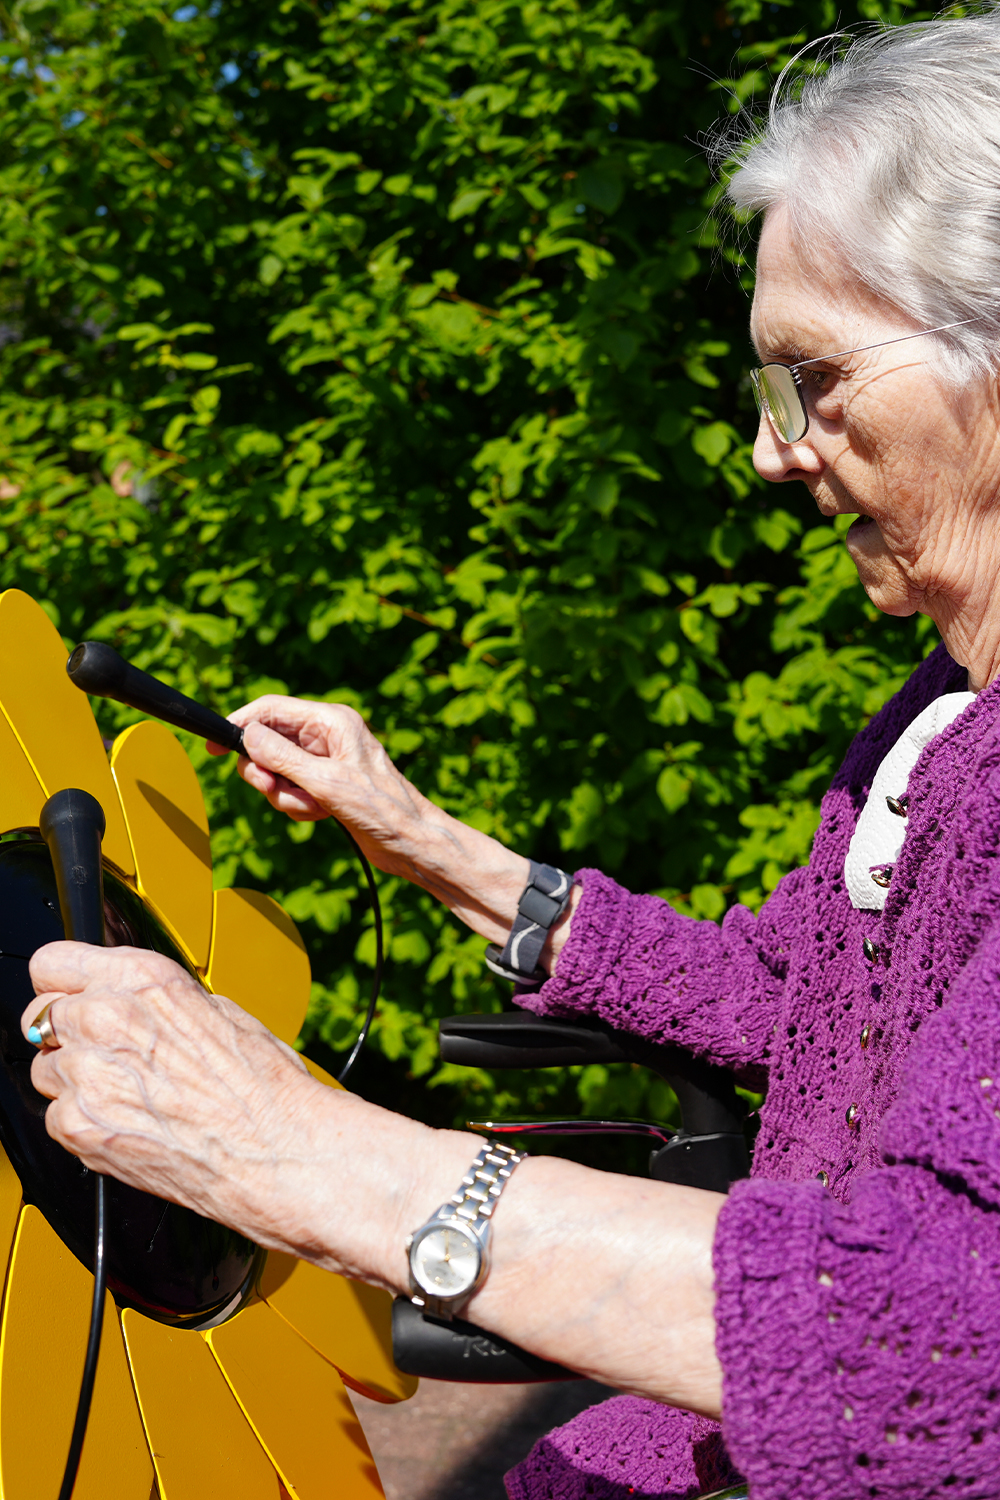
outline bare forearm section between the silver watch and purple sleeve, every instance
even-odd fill
[[[556,1156],[525,1161],[504,1197],[493,1266],[466,1316],[619,1390],[717,1418],[724,1197]]]

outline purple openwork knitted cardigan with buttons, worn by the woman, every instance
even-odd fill
[[[616,1396],[543,1438],[511,1500],[691,1500],[738,1473],[753,1500],[1000,1496],[1000,680],[913,770],[885,909],[844,890],[879,764],[964,687],[943,646],[915,672],[756,918],[580,873],[558,974],[522,1004],[681,1041],[768,1101],[715,1239],[723,1432]]]

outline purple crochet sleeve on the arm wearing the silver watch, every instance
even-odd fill
[[[852,1202],[736,1184],[724,1436],[754,1500],[1000,1494],[1000,932],[924,1022]]]

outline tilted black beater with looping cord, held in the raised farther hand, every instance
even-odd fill
[[[193,698],[178,693],[175,687],[168,687],[157,676],[151,676],[138,666],[132,666],[114,646],[106,645],[103,640],[82,640],[75,646],[69,654],[66,672],[70,682],[84,693],[91,693],[94,698],[112,698],[117,704],[127,704],[129,708],[138,708],[141,714],[148,714],[150,718],[160,718],[163,723],[174,724],[175,729],[187,729],[201,740],[211,740],[213,744],[225,746],[226,750],[246,754],[243,730],[238,724],[223,718],[222,714],[216,714],[211,708],[196,704]],[[358,856],[367,882],[372,916],[375,920],[375,974],[372,976],[372,993],[361,1030],[337,1074],[337,1083],[346,1083],[375,1020],[375,1008],[382,987],[385,954],[382,942],[382,908],[372,866],[343,824],[337,826]]]

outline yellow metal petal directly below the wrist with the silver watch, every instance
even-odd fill
[[[393,1364],[388,1292],[273,1250],[259,1293],[354,1390],[375,1401],[406,1401],[415,1394],[417,1378]]]

